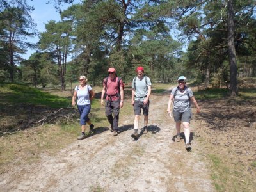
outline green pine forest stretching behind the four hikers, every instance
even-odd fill
[[[38,34],[26,0],[0,0],[0,81],[65,90],[81,74],[102,83],[115,67],[129,83],[142,65],[154,82],[184,75],[236,96],[237,78],[256,76],[253,0],[88,0],[67,10],[60,4],[72,0],[47,2],[61,21]],[[37,44],[26,40],[33,35]],[[36,53],[24,60],[28,47]]]

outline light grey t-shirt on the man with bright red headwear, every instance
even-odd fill
[[[140,100],[143,102],[145,97],[147,97],[148,94],[148,86],[152,86],[150,78],[147,76],[144,76],[143,79],[139,79],[138,76],[134,77],[132,80],[132,88],[134,88],[134,80],[136,78],[136,88],[135,88],[135,98],[134,100]],[[147,78],[147,84],[146,84],[146,78]],[[141,97],[141,98],[140,98]],[[144,98],[143,98],[144,97]]]

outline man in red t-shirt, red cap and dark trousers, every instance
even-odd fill
[[[103,80],[101,105],[104,105],[106,95],[105,113],[113,129],[113,135],[117,136],[119,111],[124,105],[124,83],[120,77],[116,77],[115,68],[109,68],[108,74],[109,76]]]

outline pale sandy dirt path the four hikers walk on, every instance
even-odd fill
[[[127,116],[116,137],[110,131],[95,134],[54,157],[42,155],[39,164],[11,169],[1,175],[1,191],[214,191],[196,137],[191,152],[183,140],[172,140],[175,124],[166,115],[168,93],[152,95],[150,102],[148,134],[138,140],[131,138],[134,116]],[[143,119],[139,125],[143,127]],[[191,127],[196,132],[195,122]],[[22,177],[13,180],[15,172]]]

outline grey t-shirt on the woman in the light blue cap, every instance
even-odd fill
[[[174,97],[173,110],[178,111],[180,113],[182,113],[184,111],[190,111],[191,105],[190,105],[189,97],[193,96],[192,90],[187,87],[184,92],[180,92],[179,88],[175,87],[175,88],[173,88],[171,95],[174,95],[176,90],[177,90],[177,93]],[[189,94],[189,97],[188,97],[188,94]]]

